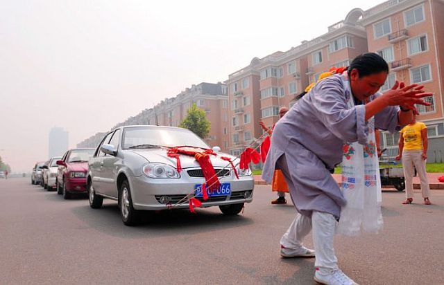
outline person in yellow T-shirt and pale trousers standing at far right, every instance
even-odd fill
[[[427,160],[427,127],[423,122],[413,121],[402,128],[400,131],[399,141],[400,152],[396,156],[396,160],[402,158],[402,167],[404,167],[405,177],[405,195],[406,199],[403,204],[411,204],[413,202],[413,166],[418,172],[421,182],[422,199],[425,205],[430,205],[430,188],[427,172],[425,170],[425,162]]]

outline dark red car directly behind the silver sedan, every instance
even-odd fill
[[[94,149],[70,149],[61,160],[57,160],[56,188],[58,194],[69,199],[72,194],[86,194],[88,160]]]

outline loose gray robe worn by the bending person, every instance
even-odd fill
[[[316,210],[339,217],[346,201],[329,169],[342,162],[343,143],[366,144],[369,127],[399,129],[398,107],[386,107],[375,115],[375,126],[368,126],[365,105],[349,109],[350,96],[343,75],[332,75],[318,82],[275,125],[262,178],[271,183],[275,168],[282,169],[301,214],[311,216]]]

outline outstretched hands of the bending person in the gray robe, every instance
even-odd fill
[[[384,98],[387,106],[402,106],[405,109],[411,109],[417,113],[415,104],[429,106],[430,103],[425,102],[421,98],[432,96],[432,93],[424,92],[424,85],[410,84],[404,86],[404,82],[396,80],[392,89],[384,92],[381,98]]]

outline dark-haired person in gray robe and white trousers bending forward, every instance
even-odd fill
[[[333,235],[346,201],[331,176],[342,161],[343,143],[366,143],[368,129],[396,131],[407,125],[414,104],[427,104],[416,84],[398,84],[377,93],[386,81],[388,65],[375,53],[359,55],[344,74],[332,75],[314,87],[278,121],[273,131],[262,177],[271,182],[281,169],[300,213],[281,239],[282,257],[310,257],[302,239],[313,229],[315,277],[323,284],[355,284],[339,270]],[[348,99],[355,107],[348,107]],[[364,104],[364,102],[366,104]],[[375,116],[375,126],[368,120]]]

